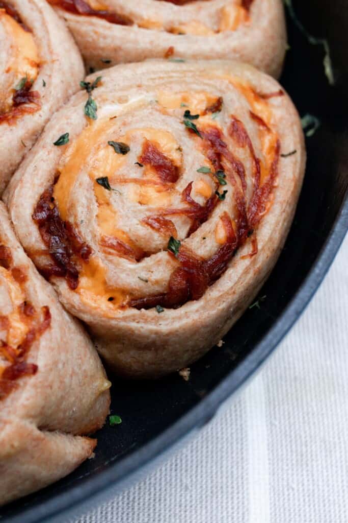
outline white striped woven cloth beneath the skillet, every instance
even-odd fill
[[[74,523],[348,522],[348,236],[262,372],[198,437]]]

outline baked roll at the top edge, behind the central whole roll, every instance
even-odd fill
[[[281,0],[49,0],[90,67],[147,58],[235,59],[278,77]]]

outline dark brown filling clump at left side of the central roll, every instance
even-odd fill
[[[82,241],[73,225],[61,219],[52,195],[53,186],[42,193],[32,215],[53,261],[51,265],[41,267],[41,272],[47,278],[64,276],[70,289],[74,290],[79,280],[75,258],[88,261],[92,249]]]

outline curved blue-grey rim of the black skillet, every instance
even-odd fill
[[[96,476],[81,477],[80,484],[68,488],[66,492],[54,495],[39,506],[34,506],[28,510],[23,507],[21,513],[15,516],[5,518],[0,516],[0,520],[3,523],[34,523],[35,521],[44,523],[58,516],[68,516],[70,511],[75,513],[78,507],[82,507],[92,496],[95,499],[97,496],[102,496],[103,492],[106,496],[108,487],[113,487],[114,494],[116,494],[116,488],[118,492],[122,492],[129,482],[130,476],[136,472],[140,473],[142,469],[146,468],[146,465],[163,456],[165,452],[177,445],[189,433],[208,423],[217,413],[218,408],[232,394],[241,390],[241,387],[260,370],[263,363],[279,346],[281,340],[302,315],[326,276],[347,230],[348,189],[345,191],[337,218],[317,259],[290,303],[251,353],[211,393],[207,394],[196,406],[191,408],[171,427],[164,430],[162,434],[135,452],[130,453],[126,458],[117,461],[107,470]]]

